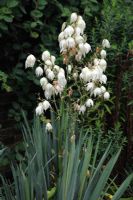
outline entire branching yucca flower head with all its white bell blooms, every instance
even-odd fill
[[[62,25],[58,41],[65,69],[56,64],[55,56],[49,51],[42,53],[35,74],[40,79],[44,99],[39,102],[36,115],[43,115],[45,111],[54,107],[57,109],[56,96],[60,98],[60,102],[64,101],[66,108],[78,115],[84,115],[95,105],[97,99],[110,98],[105,88],[107,83],[105,49],[110,48],[110,43],[104,39],[102,45],[97,47],[92,55],[91,46],[84,34],[85,27],[85,21],[77,13],[72,13],[69,23],[65,22]],[[90,54],[89,59],[87,54]],[[35,56],[29,55],[25,67],[33,68],[35,62],[37,62]],[[54,107],[51,102],[55,103]],[[49,121],[46,128],[48,131],[52,130]]]

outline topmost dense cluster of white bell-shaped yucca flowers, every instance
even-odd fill
[[[74,55],[75,59],[80,61],[91,50],[91,46],[86,42],[84,35],[85,27],[85,21],[77,13],[71,14],[70,24],[63,24],[58,41],[65,63],[67,63],[67,55]]]

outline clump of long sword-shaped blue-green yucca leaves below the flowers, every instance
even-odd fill
[[[100,137],[94,143],[91,134],[84,135],[83,129],[77,130],[68,116],[65,112],[56,120],[52,114],[53,132],[48,132],[38,117],[30,128],[24,116],[25,158],[11,167],[13,183],[2,177],[2,200],[102,200],[106,197],[114,181],[110,174],[120,150],[110,157],[109,144],[99,159]],[[113,200],[120,199],[132,178],[133,174],[113,194]]]

